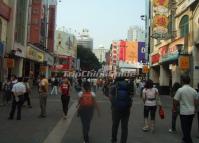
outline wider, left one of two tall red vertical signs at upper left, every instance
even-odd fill
[[[32,1],[31,24],[30,24],[30,43],[40,43],[42,0]]]

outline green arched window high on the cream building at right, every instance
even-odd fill
[[[180,36],[185,37],[186,35],[189,34],[189,16],[185,15],[182,17],[180,21]]]

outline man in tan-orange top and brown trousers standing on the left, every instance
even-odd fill
[[[40,118],[46,117],[47,96],[48,96],[48,79],[46,79],[45,76],[42,75],[41,80],[39,82],[39,99],[40,99],[40,108],[41,108],[41,113],[39,115]]]

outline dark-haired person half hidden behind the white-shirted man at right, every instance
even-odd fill
[[[174,96],[176,94],[176,91],[181,87],[180,83],[175,82],[171,88],[171,97],[173,101],[173,108],[172,108],[172,122],[171,122],[171,129],[169,129],[170,133],[175,133],[176,132],[176,120],[178,115],[180,114],[180,107],[174,105]]]

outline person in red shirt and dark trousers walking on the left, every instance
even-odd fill
[[[64,79],[63,83],[60,85],[59,88],[61,92],[61,101],[63,106],[63,112],[64,112],[64,119],[66,119],[67,113],[68,113],[68,104],[70,101],[70,82],[68,79]]]

